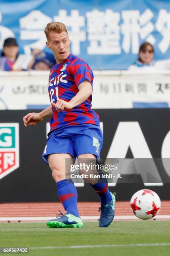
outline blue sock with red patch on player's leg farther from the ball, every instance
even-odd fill
[[[80,217],[77,209],[77,189],[71,179],[62,179],[57,184],[57,195],[67,213]]]

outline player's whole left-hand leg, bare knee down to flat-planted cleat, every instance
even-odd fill
[[[70,154],[50,154],[48,163],[52,170],[52,177],[57,185],[57,195],[62,202],[66,214],[57,216],[47,222],[49,228],[82,228],[83,223],[77,209],[77,189],[71,179],[65,179],[65,175],[70,172],[70,166],[66,166],[65,159],[72,159]]]

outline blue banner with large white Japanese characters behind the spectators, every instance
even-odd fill
[[[48,51],[43,31],[51,21],[65,23],[72,54],[92,69],[127,69],[144,41],[155,60],[170,58],[169,0],[1,0],[0,49],[15,36],[20,53]]]

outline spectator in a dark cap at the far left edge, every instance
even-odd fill
[[[18,44],[15,38],[9,37],[5,39],[0,57],[1,71],[20,71],[22,68],[14,69],[13,65],[18,57]]]

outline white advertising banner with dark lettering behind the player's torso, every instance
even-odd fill
[[[49,72],[0,72],[0,109],[50,105]],[[92,108],[170,106],[170,72],[94,71]]]

